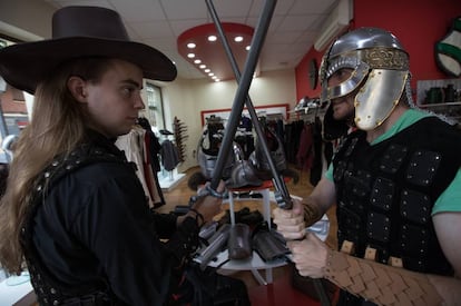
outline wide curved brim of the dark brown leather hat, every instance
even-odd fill
[[[72,37],[24,42],[0,49],[0,76],[33,93],[37,85],[60,63],[82,57],[107,57],[138,66],[146,79],[171,81],[175,65],[160,51],[135,41]]]

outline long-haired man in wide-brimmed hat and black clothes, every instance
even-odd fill
[[[20,273],[26,259],[40,305],[168,304],[222,200],[178,218],[149,211],[114,141],[145,107],[143,78],[174,80],[175,66],[130,41],[115,11],[66,7],[52,39],[0,50],[0,75],[36,99],[0,205],[2,267]]]

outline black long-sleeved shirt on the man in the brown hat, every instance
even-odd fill
[[[124,156],[108,139],[99,138],[101,145]],[[192,220],[165,245],[159,237],[171,236],[176,217],[151,214],[133,166],[95,162],[51,186],[32,237],[48,272],[65,287],[102,279],[128,305],[163,305],[186,253],[178,247],[187,239],[184,233],[198,233]]]

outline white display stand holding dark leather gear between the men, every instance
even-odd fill
[[[263,217],[264,220],[267,221],[268,226],[271,226],[271,203],[275,203],[274,193],[271,191],[272,182],[267,185],[263,185],[262,187],[254,187],[254,188],[246,188],[243,191],[257,191],[262,195],[262,198],[235,198],[234,193],[236,190],[229,190],[228,199],[224,203],[228,201],[229,204],[229,216],[230,216],[230,225],[235,225],[235,210],[234,210],[234,201],[235,200],[259,200],[263,203]],[[242,191],[239,189],[239,191]],[[292,196],[296,197],[296,196]],[[322,219],[314,224],[312,227],[307,228],[314,233],[320,239],[323,241],[326,239],[330,230],[330,221],[326,215],[322,217]],[[290,256],[288,256],[290,257]],[[199,257],[195,259],[197,263],[200,263]],[[225,263],[227,261],[227,263]],[[253,276],[261,285],[267,285],[273,283],[273,274],[272,269],[276,267],[281,267],[287,264],[287,259],[276,259],[272,261],[264,261],[256,251],[253,251],[252,257],[246,259],[230,259],[228,260],[228,251],[227,249],[219,253],[214,260],[212,260],[208,266],[210,267],[219,267],[220,269],[225,270],[251,270]],[[261,275],[259,270],[265,270],[265,278]]]

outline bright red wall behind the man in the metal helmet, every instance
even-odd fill
[[[435,66],[434,43],[448,34],[452,21],[461,16],[460,0],[354,0],[354,19],[350,28],[377,27],[393,32],[410,53],[412,88],[418,80],[449,79]],[[318,97],[320,86],[310,88],[308,62],[320,65],[323,53],[312,48],[298,63],[296,96]]]

